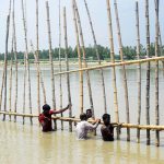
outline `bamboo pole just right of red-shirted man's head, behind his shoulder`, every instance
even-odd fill
[[[52,63],[52,52],[51,52],[51,34],[50,34],[50,20],[49,20],[49,5],[46,1],[47,9],[47,28],[48,28],[48,42],[49,42],[49,62],[51,68],[51,89],[52,89],[52,107],[56,108],[56,98],[55,98],[55,77],[54,77],[54,63]],[[55,120],[55,130],[57,130],[57,121]]]

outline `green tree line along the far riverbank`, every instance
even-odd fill
[[[108,47],[104,47],[98,45],[97,46],[98,52],[99,52],[99,59],[101,60],[109,60],[109,55],[110,55],[110,49]],[[65,58],[65,48],[61,48],[61,59]],[[126,60],[133,60],[137,59],[137,47],[136,46],[124,46],[122,47],[122,51],[124,51],[124,58]],[[162,54],[164,52],[164,47],[161,47],[160,50],[160,56],[162,56]],[[140,57],[144,58],[147,55],[147,49],[143,45],[140,45]],[[155,55],[155,46],[152,43],[150,45],[150,57]],[[8,55],[8,60],[11,59],[11,57],[13,57],[14,55],[9,52]],[[78,58],[78,51],[77,51],[77,47],[72,48],[69,47],[68,48],[68,57],[75,59]],[[14,57],[13,57],[14,58]],[[39,50],[39,59],[40,60],[48,60],[49,58],[49,50],[48,49],[43,49]],[[52,49],[52,58],[54,60],[58,60],[59,58],[59,48],[54,48]],[[97,60],[96,57],[96,52],[95,52],[95,48],[92,46],[89,46],[85,48],[85,58],[86,60]],[[24,52],[23,51],[17,51],[17,60],[23,60],[24,59]],[[34,55],[32,52],[28,54],[28,59],[30,60],[34,60]],[[115,54],[115,59],[119,60],[119,54]],[[4,54],[0,54],[0,60],[4,60]]]

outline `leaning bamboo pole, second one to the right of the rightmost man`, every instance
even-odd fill
[[[114,1],[115,5],[115,14],[116,14],[116,23],[117,23],[117,34],[118,34],[118,43],[119,43],[119,51],[120,51],[120,60],[124,61],[124,51],[122,51],[122,43],[121,43],[121,34],[120,34],[120,25],[119,25],[119,16],[118,16],[118,9],[117,9],[117,1]],[[125,101],[126,101],[126,116],[127,122],[130,122],[130,114],[129,114],[129,97],[128,97],[128,86],[127,86],[127,73],[126,67],[122,66],[122,73],[124,73],[124,89],[125,89]],[[127,128],[127,141],[130,141],[130,129]]]

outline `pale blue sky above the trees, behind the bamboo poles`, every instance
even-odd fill
[[[0,0],[0,52],[5,51],[5,31],[7,31],[7,16],[9,13],[9,1]],[[15,0],[15,27],[16,27],[16,43],[17,51],[25,50],[23,21],[21,1]],[[48,33],[47,33],[47,15],[46,15],[46,0],[39,1],[39,49],[48,49]],[[107,9],[106,0],[86,0],[93,22],[97,44],[109,47],[108,39],[108,24],[107,24]],[[138,0],[139,14],[140,14],[140,35],[141,44],[145,45],[145,11],[144,0]],[[151,42],[155,40],[155,10],[154,0],[150,2],[150,34]],[[48,0],[50,10],[50,28],[51,28],[51,42],[52,48],[59,45],[59,0]],[[77,0],[82,30],[84,35],[85,46],[93,45],[92,33],[89,24],[89,19],[83,0]],[[118,52],[118,38],[116,28],[116,17],[114,12],[114,0],[110,0],[112,4],[112,19],[113,19],[113,33],[115,43],[115,52]],[[136,32],[136,0],[117,0],[121,39],[124,46],[136,46],[137,32]],[[36,3],[35,0],[26,0],[26,20],[27,20],[27,42],[28,50],[31,50],[30,42],[32,40],[36,47]],[[74,24],[72,15],[72,0],[61,0],[61,46],[63,47],[63,7],[67,10],[67,26],[68,26],[68,44],[69,46],[75,46]],[[164,38],[164,0],[160,1],[160,26],[162,38]],[[11,50],[12,40],[12,27],[10,28],[9,36],[9,51]]]

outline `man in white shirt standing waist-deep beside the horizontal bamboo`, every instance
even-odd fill
[[[94,130],[97,128],[98,124],[101,122],[101,119],[95,119],[95,125],[92,125],[86,121],[87,116],[84,113],[80,115],[80,119],[81,121],[78,122],[75,127],[77,138],[84,140],[87,139],[87,132],[90,130]]]

